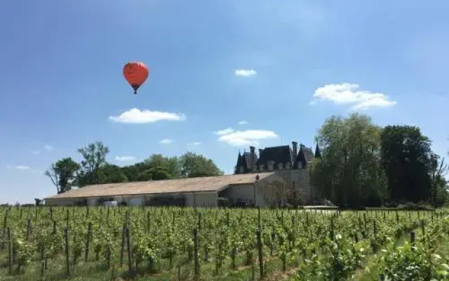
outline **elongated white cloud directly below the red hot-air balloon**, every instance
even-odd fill
[[[128,124],[154,123],[162,120],[184,121],[185,115],[182,113],[160,112],[151,110],[139,110],[133,108],[126,110],[119,116],[109,116],[109,121]]]

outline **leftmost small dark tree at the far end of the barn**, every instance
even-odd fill
[[[79,169],[79,164],[74,162],[72,158],[67,157],[51,164],[50,169],[45,172],[45,175],[51,179],[58,193],[62,193],[72,189],[76,172]]]

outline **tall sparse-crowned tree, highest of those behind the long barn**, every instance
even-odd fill
[[[109,153],[109,148],[98,141],[79,148],[78,152],[83,157],[82,170],[77,175],[78,186],[98,183],[98,169],[107,163],[106,155]]]

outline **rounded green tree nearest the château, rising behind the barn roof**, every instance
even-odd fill
[[[220,176],[220,171],[211,159],[197,155],[194,152],[186,152],[180,157],[181,176],[196,178],[200,176]]]

